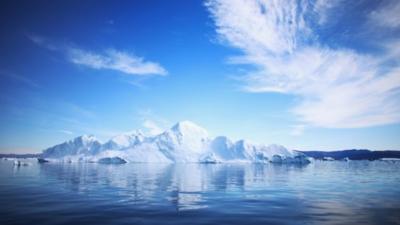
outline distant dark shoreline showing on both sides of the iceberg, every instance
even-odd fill
[[[299,151],[308,157],[314,159],[326,159],[331,158],[334,160],[379,160],[382,158],[400,158],[400,151],[398,150],[386,150],[386,151],[371,151],[367,149],[350,149],[350,150],[338,150],[338,151]],[[41,154],[0,154],[0,158],[40,158]]]

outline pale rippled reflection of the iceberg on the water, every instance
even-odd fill
[[[287,168],[295,171],[298,165],[49,163],[37,167],[41,174],[59,180],[59,185],[80,194],[95,195],[95,198],[108,195],[107,198],[123,199],[124,204],[142,202],[151,206],[156,203],[184,211],[212,207],[207,196],[210,192],[229,198],[248,188],[264,189],[275,179],[291,182],[296,174],[288,173]]]

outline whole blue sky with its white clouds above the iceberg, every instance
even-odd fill
[[[1,1],[0,152],[181,120],[400,149],[400,2]]]

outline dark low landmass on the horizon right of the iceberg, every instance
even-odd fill
[[[324,159],[324,157],[331,157],[335,160],[343,160],[348,158],[350,160],[378,160],[382,158],[400,158],[400,151],[387,150],[387,151],[371,151],[367,149],[350,149],[340,151],[299,151],[312,157],[314,159]]]

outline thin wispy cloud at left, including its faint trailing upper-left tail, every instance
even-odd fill
[[[114,70],[135,76],[166,75],[168,72],[159,63],[145,60],[143,57],[113,48],[94,52],[66,44],[57,44],[44,37],[28,35],[39,46],[51,51],[62,52],[73,64],[96,70]]]

